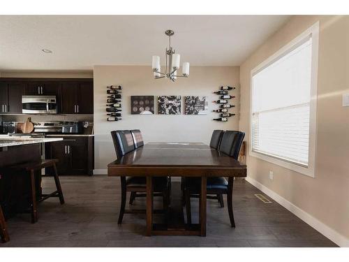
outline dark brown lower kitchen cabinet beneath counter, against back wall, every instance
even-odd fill
[[[94,171],[94,137],[65,136],[64,140],[45,145],[47,159],[59,159],[59,175],[92,175]],[[50,172],[50,170],[47,170]]]

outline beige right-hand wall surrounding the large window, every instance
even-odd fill
[[[320,20],[315,178],[247,157],[248,176],[349,239],[349,17],[296,16],[240,67],[241,116],[249,147],[250,73],[274,52]],[[269,170],[274,180],[269,180]],[[348,243],[348,242],[347,242]]]

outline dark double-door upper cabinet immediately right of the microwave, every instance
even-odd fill
[[[62,113],[82,115],[94,113],[93,82],[63,82],[61,94]]]

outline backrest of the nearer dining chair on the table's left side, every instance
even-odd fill
[[[135,150],[131,131],[116,130],[111,131],[110,133],[112,134],[112,141],[114,143],[114,149],[117,153],[118,159],[128,152]]]

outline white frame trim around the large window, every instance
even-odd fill
[[[251,70],[250,78],[250,138],[249,138],[249,155],[251,157],[256,157],[262,159],[269,163],[274,163],[278,166],[294,170],[298,173],[309,175],[310,177],[315,177],[315,154],[316,154],[316,105],[317,105],[317,88],[318,88],[318,48],[319,48],[319,22],[316,22],[311,27],[306,29],[302,34],[299,34],[290,43],[284,45],[280,50],[272,54],[272,56],[262,61],[258,66]],[[312,59],[311,59],[311,99],[310,99],[310,118],[309,118],[309,162],[308,166],[299,165],[295,162],[282,159],[280,157],[272,156],[272,154],[263,154],[260,152],[252,151],[252,108],[253,108],[253,75],[260,72],[262,69],[267,68],[267,66],[273,64],[275,61],[279,60],[285,54],[288,54],[297,46],[299,43],[304,41],[311,35],[312,37]]]

